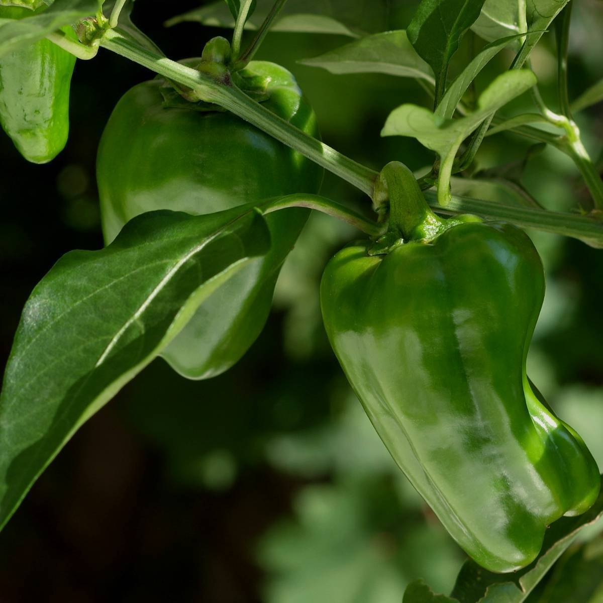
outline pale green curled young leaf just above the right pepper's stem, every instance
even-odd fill
[[[446,120],[424,107],[402,105],[390,113],[381,135],[412,136],[440,156],[438,203],[446,206],[450,200],[449,185],[453,162],[463,140],[484,119],[535,83],[535,75],[527,69],[507,71],[499,75],[481,93],[476,110],[461,119]]]

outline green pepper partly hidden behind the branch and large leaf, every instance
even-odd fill
[[[262,103],[318,137],[315,114],[294,77],[274,63],[251,62],[268,82]],[[106,242],[142,212],[212,213],[293,192],[317,193],[323,169],[227,112],[165,107],[161,80],[129,90],[101,138],[97,177]],[[280,266],[309,210],[266,216],[272,248],[218,289],[162,353],[190,379],[223,373],[247,351],[267,320]]]

